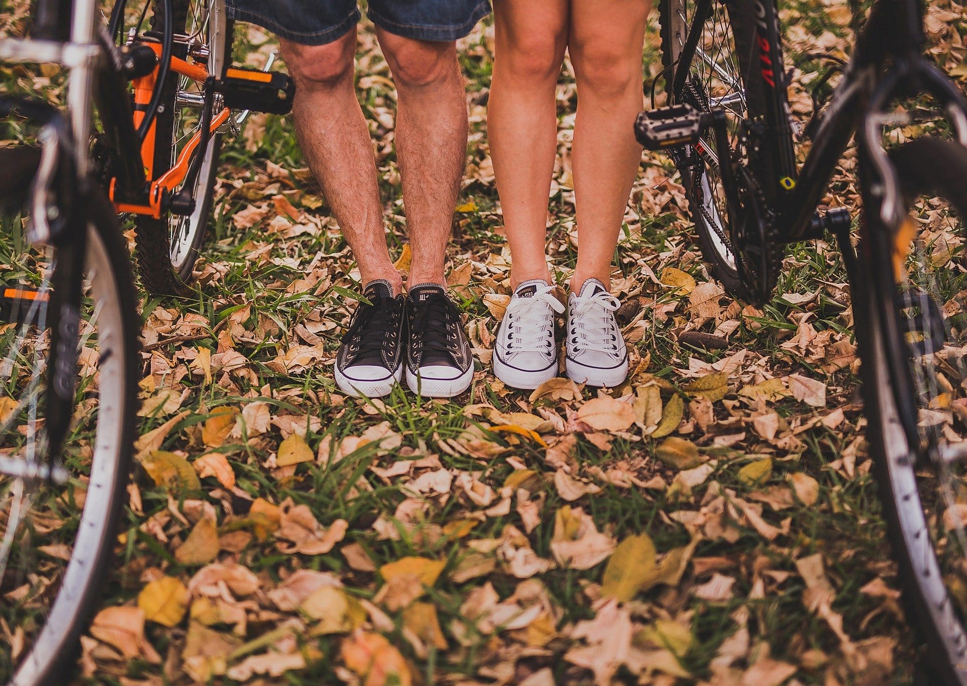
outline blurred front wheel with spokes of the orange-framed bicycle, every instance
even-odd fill
[[[0,220],[0,621],[14,636],[0,650],[2,684],[68,683],[63,672],[98,601],[129,483],[138,322],[130,256],[103,194],[86,202],[85,277],[74,304],[78,380],[52,481],[38,474],[49,464],[46,362],[55,308],[47,305],[58,302],[51,292],[58,266],[49,248],[25,242],[19,219]],[[60,300],[63,313],[69,299]],[[58,321],[63,331],[72,318]]]

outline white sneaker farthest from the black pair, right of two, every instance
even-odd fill
[[[568,298],[568,376],[589,386],[613,387],[628,378],[628,347],[614,319],[618,299],[597,279]]]

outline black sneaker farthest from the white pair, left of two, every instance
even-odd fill
[[[406,297],[393,296],[390,282],[370,282],[336,356],[336,384],[350,396],[389,395],[403,372]]]

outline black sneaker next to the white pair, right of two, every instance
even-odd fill
[[[429,398],[460,395],[474,376],[460,312],[436,283],[410,288],[407,306],[406,385]]]

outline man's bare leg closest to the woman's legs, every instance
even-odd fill
[[[456,48],[378,27],[376,36],[396,82],[396,159],[413,251],[408,285],[443,285],[467,155],[467,103]]]

